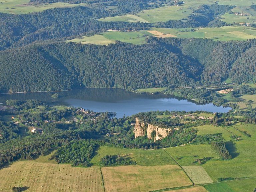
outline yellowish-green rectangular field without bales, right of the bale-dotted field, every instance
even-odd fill
[[[192,184],[178,165],[102,167],[101,171],[106,192],[144,192]]]

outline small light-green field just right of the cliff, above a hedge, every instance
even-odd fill
[[[197,135],[207,135],[207,134],[215,134],[221,133],[222,137],[225,140],[232,140],[230,136],[232,133],[228,132],[224,127],[215,127],[212,125],[202,125],[198,127],[194,127],[197,130]]]

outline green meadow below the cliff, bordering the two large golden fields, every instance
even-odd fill
[[[162,149],[141,150],[125,149],[119,147],[100,146],[91,159],[93,165],[99,165],[100,159],[105,155],[121,155],[127,159],[136,161],[137,165],[174,165],[170,156]]]

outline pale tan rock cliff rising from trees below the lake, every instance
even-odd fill
[[[136,122],[134,126],[133,133],[135,134],[135,138],[138,136],[145,136],[147,133],[147,137],[149,139],[152,139],[151,133],[152,131],[156,131],[156,136],[154,138],[154,141],[165,138],[170,132],[172,132],[171,129],[167,128],[161,128],[152,124],[146,125],[145,122],[141,122],[138,117],[136,117]]]

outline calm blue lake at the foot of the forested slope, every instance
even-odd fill
[[[209,111],[228,112],[230,107],[217,107],[212,103],[198,104],[186,99],[164,94],[137,94],[123,89],[83,88],[57,92],[58,99],[52,99],[55,92],[16,93],[0,95],[0,103],[8,99],[39,99],[49,104],[83,107],[97,112],[116,112],[117,117],[130,116],[146,111]]]

